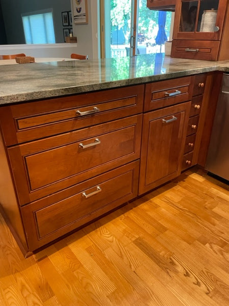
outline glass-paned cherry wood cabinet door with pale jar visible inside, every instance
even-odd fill
[[[174,39],[220,40],[227,0],[177,0]]]

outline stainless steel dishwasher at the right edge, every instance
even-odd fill
[[[229,74],[223,74],[206,169],[229,181]]]

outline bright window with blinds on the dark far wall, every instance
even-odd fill
[[[22,14],[25,43],[55,43],[52,9]]]

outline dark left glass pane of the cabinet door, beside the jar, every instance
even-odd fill
[[[181,6],[180,32],[194,32],[198,1],[185,1]]]

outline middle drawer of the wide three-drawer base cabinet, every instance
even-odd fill
[[[9,148],[20,204],[138,159],[141,122],[136,115]]]

